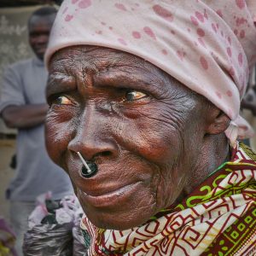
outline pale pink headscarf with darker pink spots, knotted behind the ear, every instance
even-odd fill
[[[252,135],[239,116],[256,59],[256,0],[65,0],[46,64],[58,49],[99,45],[153,63],[230,119],[230,143]]]

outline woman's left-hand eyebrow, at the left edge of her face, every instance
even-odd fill
[[[63,73],[53,73],[49,75],[46,86],[46,97],[57,93],[76,90],[77,84],[75,78]]]

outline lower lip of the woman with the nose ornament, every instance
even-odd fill
[[[104,189],[104,192],[97,191],[96,195],[89,195],[79,189],[79,197],[93,207],[111,207],[118,204],[119,201],[126,201],[138,191],[138,186],[140,185],[141,182],[137,182],[119,187],[119,189]]]

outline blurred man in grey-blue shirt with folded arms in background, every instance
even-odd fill
[[[9,184],[10,220],[17,236],[16,249],[22,255],[27,218],[38,195],[51,191],[55,200],[73,192],[67,174],[49,160],[44,146],[44,119],[48,110],[44,90],[44,67],[49,32],[57,10],[44,7],[28,20],[29,43],[35,57],[6,69],[3,77],[0,114],[5,124],[17,128],[17,172]]]

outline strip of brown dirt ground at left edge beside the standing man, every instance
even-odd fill
[[[15,154],[15,139],[0,139],[0,215],[9,220],[9,201],[5,199],[5,190],[15,170],[9,167],[12,155]]]

